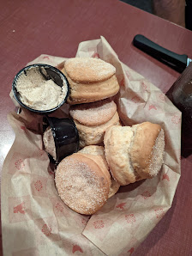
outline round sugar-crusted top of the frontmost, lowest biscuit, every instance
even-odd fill
[[[95,213],[109,195],[109,183],[99,165],[79,153],[58,164],[55,181],[63,202],[81,214]]]

